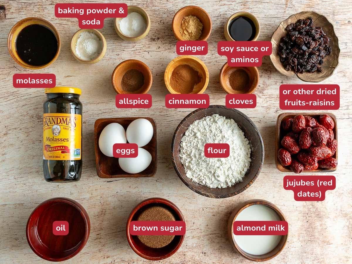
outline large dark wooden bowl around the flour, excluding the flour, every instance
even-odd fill
[[[195,183],[190,178],[186,176],[183,165],[180,160],[180,143],[181,139],[186,132],[187,128],[194,121],[207,117],[208,115],[219,114],[226,118],[233,119],[237,125],[243,131],[245,137],[250,141],[251,144],[251,165],[249,170],[246,172],[243,181],[234,184],[231,187],[226,188],[209,188],[207,186]],[[221,105],[211,105],[209,108],[199,108],[191,112],[187,117],[185,117],[181,123],[177,126],[174,138],[172,139],[171,145],[171,158],[174,164],[175,171],[182,180],[184,184],[191,190],[198,194],[207,196],[210,198],[226,198],[237,195],[248,187],[250,187],[253,182],[258,177],[260,170],[262,170],[264,162],[264,145],[263,139],[256,125],[249,119],[245,114],[236,110],[229,109]]]

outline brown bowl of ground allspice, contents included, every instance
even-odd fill
[[[149,67],[137,59],[127,59],[114,69],[112,86],[118,94],[146,94],[153,82]]]

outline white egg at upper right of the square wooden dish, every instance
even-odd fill
[[[153,126],[147,119],[139,118],[131,122],[126,130],[128,143],[136,143],[143,147],[150,142],[153,137]]]

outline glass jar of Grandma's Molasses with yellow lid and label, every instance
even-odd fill
[[[82,172],[81,89],[45,89],[43,171],[48,182],[79,181]]]

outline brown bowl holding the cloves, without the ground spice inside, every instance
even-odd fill
[[[235,90],[231,87],[228,78],[233,71],[242,69],[245,70],[249,76],[249,83],[243,90]],[[230,67],[227,62],[220,70],[220,84],[222,89],[228,94],[252,94],[257,89],[259,82],[259,72],[257,67]]]

